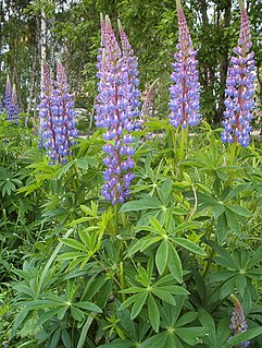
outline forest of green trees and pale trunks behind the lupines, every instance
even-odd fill
[[[171,63],[177,43],[176,3],[171,0],[2,0],[0,2],[0,95],[7,74],[16,85],[21,110],[37,118],[40,64],[45,58],[54,70],[61,58],[68,73],[76,107],[92,115],[97,94],[96,62],[100,45],[100,13],[113,24],[120,19],[138,56],[140,89],[157,80],[153,112],[169,112]],[[237,1],[187,0],[184,10],[198,50],[201,111],[219,124],[229,53],[239,35]],[[257,115],[262,105],[262,2],[247,1],[258,73]],[[89,121],[88,121],[89,123]]]

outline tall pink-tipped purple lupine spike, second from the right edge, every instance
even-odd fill
[[[186,17],[179,0],[176,1],[178,19],[178,52],[174,55],[172,64],[174,72],[170,87],[170,123],[177,128],[196,125],[200,120],[200,84],[198,81],[197,51],[192,48],[192,41],[187,26]]]

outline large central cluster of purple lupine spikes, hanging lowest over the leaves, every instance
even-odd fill
[[[105,129],[103,134],[107,154],[102,195],[113,205],[129,197],[135,163],[130,132],[139,113],[137,58],[121,24],[122,46],[115,38],[109,16],[101,16],[101,48],[98,56],[98,96],[96,124]],[[117,215],[117,214],[116,214]]]

